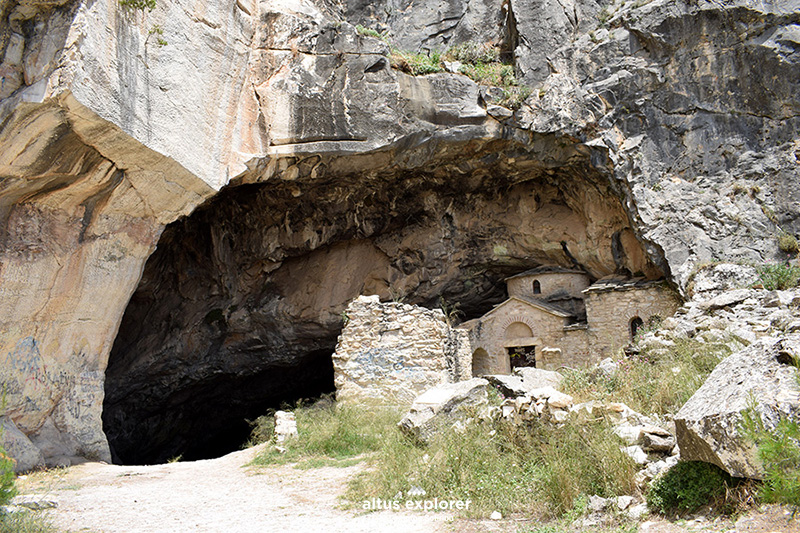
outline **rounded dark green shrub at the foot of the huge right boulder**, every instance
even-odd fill
[[[647,506],[665,515],[692,513],[704,505],[719,505],[733,484],[733,478],[716,465],[680,462],[650,485]]]

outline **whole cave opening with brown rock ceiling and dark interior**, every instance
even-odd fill
[[[331,354],[359,295],[470,319],[540,265],[663,275],[589,155],[558,141],[549,153],[563,159],[545,164],[528,146],[445,146],[370,172],[292,158],[291,180],[232,183],[167,226],[109,356],[114,461],[217,457],[247,440],[247,420],[333,392]]]

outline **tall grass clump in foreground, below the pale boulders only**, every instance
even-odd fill
[[[560,516],[582,496],[635,490],[636,465],[603,424],[522,428],[507,422],[468,425],[418,447],[399,432],[388,435],[373,468],[350,485],[355,502],[390,499],[411,486],[427,497],[470,500],[470,516],[542,509]]]

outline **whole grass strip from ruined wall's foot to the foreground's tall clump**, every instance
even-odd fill
[[[371,498],[393,500],[416,486],[427,498],[471,500],[465,510],[470,516],[531,509],[560,516],[590,494],[636,490],[637,466],[603,422],[563,427],[473,422],[420,446],[400,432],[400,413],[390,408],[327,403],[300,406],[295,416],[299,436],[283,444],[284,452],[264,450],[253,464],[295,462],[307,469],[366,459],[371,468],[351,481],[346,494],[358,507]]]

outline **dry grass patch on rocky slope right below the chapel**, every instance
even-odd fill
[[[641,413],[674,413],[730,354],[725,344],[675,339],[666,351],[643,350],[618,360],[617,373],[566,370],[564,392],[577,401],[617,401]]]

